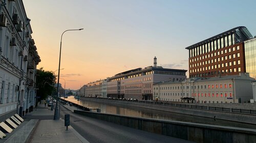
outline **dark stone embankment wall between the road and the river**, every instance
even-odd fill
[[[74,110],[79,115],[152,133],[182,138],[195,142],[248,142],[256,141],[256,130],[179,121],[127,117],[89,111]]]

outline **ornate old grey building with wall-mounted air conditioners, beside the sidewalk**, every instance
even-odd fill
[[[40,57],[31,39],[22,0],[0,1],[0,121],[33,110],[36,65]]]

